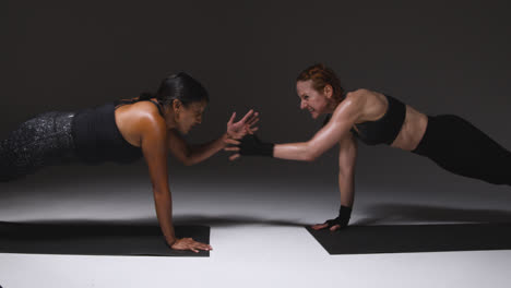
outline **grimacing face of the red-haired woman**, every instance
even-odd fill
[[[329,113],[330,99],[323,92],[318,92],[312,80],[296,82],[296,92],[300,97],[300,109],[309,110],[313,119],[320,115]]]

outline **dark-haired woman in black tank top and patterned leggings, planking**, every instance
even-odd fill
[[[177,239],[168,184],[167,153],[185,165],[203,161],[225,147],[227,137],[240,139],[258,121],[250,110],[240,121],[233,113],[217,140],[190,146],[180,133],[202,122],[209,101],[203,86],[186,73],[168,76],[157,93],[118,100],[78,112],[46,112],[0,142],[0,180],[10,181],[47,165],[72,161],[129,164],[144,158],[153,184],[156,215],[168,245],[176,250],[211,250],[191,238]]]

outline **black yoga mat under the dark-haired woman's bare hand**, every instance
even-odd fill
[[[176,226],[176,236],[210,243],[210,227]],[[0,253],[210,256],[171,250],[157,225],[105,223],[0,223]]]

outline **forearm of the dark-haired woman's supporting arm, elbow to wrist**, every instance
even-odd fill
[[[154,203],[159,227],[169,245],[176,241],[173,224],[173,199],[170,191],[154,191]]]

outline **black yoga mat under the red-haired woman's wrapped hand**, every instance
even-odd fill
[[[349,226],[307,230],[330,254],[510,250],[511,224]]]

